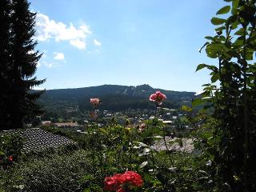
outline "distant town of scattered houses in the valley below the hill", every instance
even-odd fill
[[[154,119],[155,111],[154,110],[127,110],[113,112],[109,110],[97,110],[98,113],[98,126],[104,127],[107,126],[111,121],[114,121],[122,126],[127,127],[136,127],[140,126],[143,122]],[[188,125],[186,119],[186,112],[177,109],[161,108],[158,107],[158,120],[165,124],[165,127],[170,130],[183,130],[189,131],[192,128]],[[54,127],[61,129],[62,131],[72,131],[84,133],[86,128],[92,126],[94,119],[90,118],[88,115],[87,118],[81,119],[80,121],[58,121],[53,122],[51,119],[42,120],[38,122],[39,127]],[[32,124],[27,124],[27,127],[31,127]]]

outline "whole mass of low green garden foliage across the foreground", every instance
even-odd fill
[[[210,174],[202,171],[204,156],[152,148],[155,141],[166,137],[164,124],[157,118],[146,121],[143,130],[120,126],[113,119],[106,127],[95,122],[85,134],[65,134],[84,150],[30,154],[4,170],[0,176],[3,190],[102,191],[106,176],[134,170],[144,181],[137,191],[214,191]],[[181,141],[175,142],[182,145]]]

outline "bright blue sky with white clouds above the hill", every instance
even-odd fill
[[[31,0],[37,12],[37,50],[43,53],[37,89],[104,84],[149,84],[165,90],[198,91],[210,82],[200,63],[210,18],[222,0]]]

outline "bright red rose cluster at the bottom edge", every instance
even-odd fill
[[[134,171],[126,171],[124,174],[114,174],[112,177],[106,177],[104,181],[104,190],[126,192],[125,188],[142,186],[142,177]]]

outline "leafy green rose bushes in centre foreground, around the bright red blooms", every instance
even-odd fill
[[[95,168],[93,174],[86,174],[82,179],[84,191],[97,191],[94,187],[102,187],[106,176],[125,170],[135,170],[142,175],[144,185],[139,191],[214,189],[211,182],[207,184],[210,175],[202,171],[206,163],[198,162],[205,159],[169,150],[158,152],[151,147],[155,141],[166,137],[164,125],[156,118],[146,121],[145,130],[119,126],[114,121],[104,128],[95,124],[83,137],[87,141],[88,158]]]

